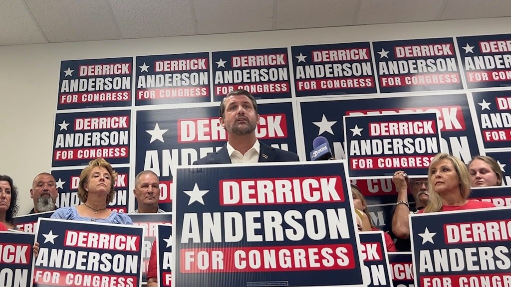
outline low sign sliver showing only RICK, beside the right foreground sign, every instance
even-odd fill
[[[411,252],[388,252],[394,287],[414,287]]]

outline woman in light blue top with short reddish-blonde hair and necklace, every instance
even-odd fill
[[[102,157],[91,160],[80,174],[78,198],[82,204],[61,207],[53,213],[52,218],[132,225],[131,218],[126,214],[107,208],[115,197],[115,181],[117,172],[108,161]]]

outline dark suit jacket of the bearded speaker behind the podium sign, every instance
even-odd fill
[[[272,148],[259,141],[261,149],[259,151],[259,162],[282,162],[282,161],[300,161],[298,155],[281,149]],[[218,152],[206,155],[195,161],[193,164],[220,164],[231,163],[227,153],[227,143]]]

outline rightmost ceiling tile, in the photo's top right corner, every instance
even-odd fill
[[[511,15],[510,0],[448,0],[439,19],[491,18],[509,15]]]

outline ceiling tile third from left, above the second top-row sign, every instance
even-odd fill
[[[190,0],[109,0],[125,39],[194,34]]]

